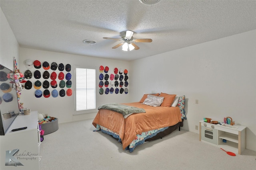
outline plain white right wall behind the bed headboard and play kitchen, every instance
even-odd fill
[[[131,102],[143,93],[186,95],[184,129],[199,133],[204,117],[247,126],[256,151],[256,30],[131,62]],[[195,100],[199,104],[195,104]]]

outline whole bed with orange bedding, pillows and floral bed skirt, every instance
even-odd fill
[[[113,106],[117,109],[110,108]],[[94,131],[111,135],[123,149],[133,152],[136,146],[182,127],[186,119],[184,106],[184,95],[144,94],[140,102],[100,106],[92,124],[96,127]]]

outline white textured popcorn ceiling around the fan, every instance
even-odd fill
[[[124,61],[256,29],[254,0],[0,0],[0,6],[20,47]],[[122,51],[112,49],[120,41],[102,38],[126,30],[153,41]]]

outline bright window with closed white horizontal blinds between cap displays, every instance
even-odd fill
[[[96,69],[76,67],[75,114],[96,112]]]

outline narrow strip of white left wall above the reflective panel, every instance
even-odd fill
[[[19,64],[19,45],[2,9],[0,21],[0,64],[12,70],[13,57]]]

